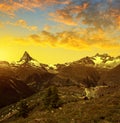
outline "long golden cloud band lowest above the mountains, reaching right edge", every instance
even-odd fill
[[[82,34],[80,34],[80,30],[64,31],[56,34],[43,31],[40,34],[30,35],[29,39],[40,45],[74,48],[78,50],[95,47],[109,49],[120,46],[119,37],[115,39],[114,36],[109,36],[103,30],[94,30],[92,32],[87,30]]]

